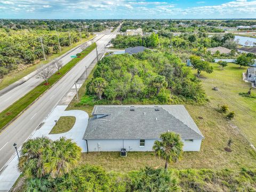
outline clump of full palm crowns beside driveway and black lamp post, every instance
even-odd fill
[[[60,177],[75,167],[80,156],[81,148],[71,139],[29,139],[21,149],[19,170],[28,178]]]

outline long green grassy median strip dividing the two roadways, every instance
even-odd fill
[[[78,61],[81,61],[87,54],[89,54],[92,50],[94,50],[96,44],[93,43],[86,50],[82,51],[82,56],[80,58],[75,58],[68,62],[65,66],[60,69],[60,74],[55,73],[49,78],[49,85],[44,85],[45,82],[36,86],[33,90],[28,92],[18,101],[14,102],[11,106],[6,108],[4,111],[0,113],[0,130],[3,129],[10,121],[12,121],[15,117],[17,117],[23,110],[25,110],[33,101],[35,101],[41,94],[50,89],[50,87],[61,77],[63,77],[72,67],[76,65]]]

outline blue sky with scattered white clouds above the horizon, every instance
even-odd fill
[[[256,18],[256,0],[0,0],[0,18]]]

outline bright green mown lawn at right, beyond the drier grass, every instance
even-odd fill
[[[212,74],[202,73],[202,83],[207,97],[210,99],[210,106],[217,108],[218,105],[228,105],[231,111],[235,112],[232,124],[237,126],[245,137],[256,146],[256,99],[242,97],[239,93],[247,93],[251,84],[242,80],[242,73],[246,67],[238,68],[234,63],[228,63],[223,70],[219,69],[216,63],[212,64]],[[212,87],[218,86],[219,91],[213,91]],[[256,89],[252,89],[256,93]]]

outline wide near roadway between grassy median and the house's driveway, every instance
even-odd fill
[[[111,38],[117,34],[107,31],[106,35],[97,41],[98,52],[104,51],[105,45]],[[5,163],[14,154],[13,143],[18,144],[18,148],[33,133],[43,119],[50,114],[51,110],[58,104],[60,99],[65,95],[74,82],[84,73],[85,66],[89,66],[96,58],[96,51],[93,50],[83,60],[77,63],[59,82],[54,84],[49,91],[44,93],[30,108],[28,108],[19,118],[0,133],[0,170]]]

